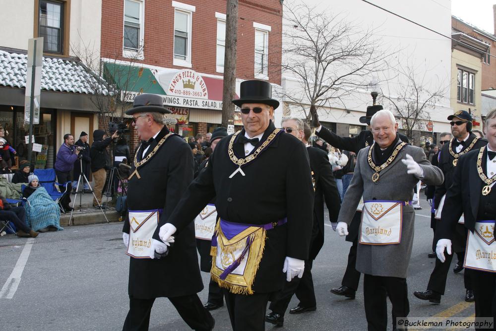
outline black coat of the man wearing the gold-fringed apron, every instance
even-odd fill
[[[270,122],[252,153],[274,129]],[[308,153],[300,140],[280,132],[256,159],[242,167],[246,176],[237,173],[229,178],[238,168],[228,154],[231,136],[218,142],[169,222],[181,233],[214,196],[218,216],[227,221],[262,225],[287,217],[286,224],[267,231],[252,287],[255,292],[274,292],[285,282],[285,257],[309,257],[314,192]],[[234,142],[233,150],[238,157],[245,157],[243,143]]]

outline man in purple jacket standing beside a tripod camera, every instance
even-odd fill
[[[74,146],[74,136],[70,133],[66,133],[63,136],[63,144],[59,148],[57,153],[57,159],[55,161],[55,174],[57,175],[57,181],[61,184],[61,192],[64,191],[62,184],[67,183],[67,192],[62,197],[61,204],[65,211],[71,211],[72,208],[69,206],[70,203],[70,191],[72,188],[70,172],[74,168],[74,163],[78,161],[80,149]]]

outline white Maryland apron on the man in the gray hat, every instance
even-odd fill
[[[150,259],[152,237],[162,209],[129,210],[129,245],[126,254],[136,259]]]

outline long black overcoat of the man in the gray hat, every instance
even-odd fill
[[[150,143],[145,157],[168,133],[169,130],[164,127]],[[136,153],[142,153],[142,148],[138,148]],[[131,173],[134,169],[133,164]],[[153,235],[154,239],[160,240],[158,236],[160,226],[168,222],[174,207],[193,179],[191,148],[179,135],[171,135],[156,154],[138,168],[138,173],[140,179],[134,175],[128,181],[127,206],[130,210],[163,208]],[[190,216],[189,221],[193,219],[194,216]],[[129,233],[128,217],[124,221],[123,231]],[[189,222],[175,237],[174,247],[164,258],[158,260],[130,258],[128,284],[130,296],[138,299],[176,297],[194,294],[203,289],[193,222]]]

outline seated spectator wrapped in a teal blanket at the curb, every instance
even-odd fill
[[[34,179],[31,183],[34,183]],[[60,208],[44,187],[40,186],[35,189],[29,196],[28,202],[24,206],[26,220],[33,230],[39,232],[63,230],[59,224],[61,218]]]

